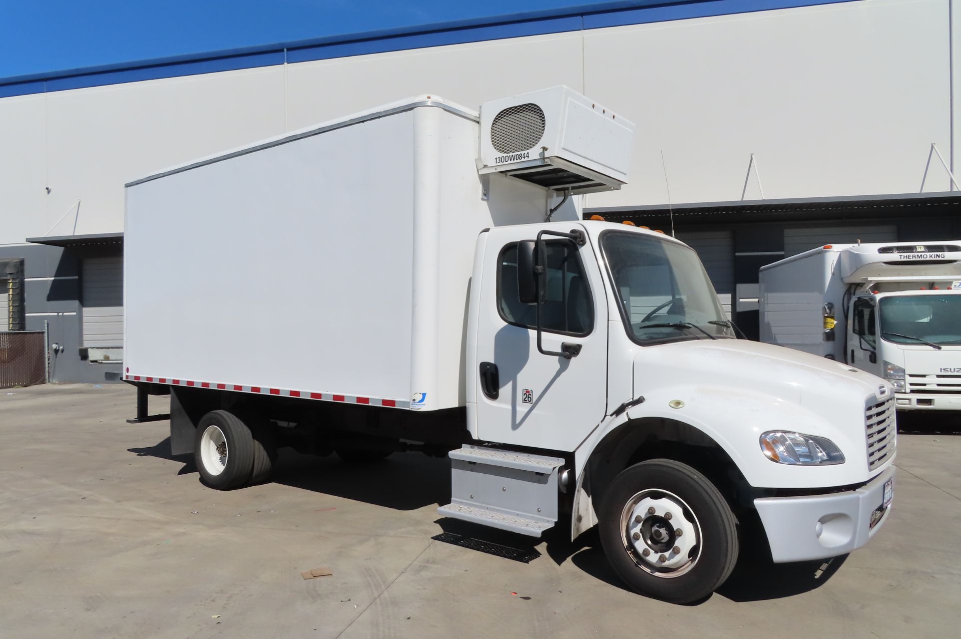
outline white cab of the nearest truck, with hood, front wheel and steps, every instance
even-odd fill
[[[572,537],[599,525],[632,587],[690,601],[757,550],[733,532],[747,511],[776,562],[850,552],[888,511],[891,386],[737,339],[673,237],[603,220],[486,230],[469,318],[468,430],[497,443],[451,453],[443,515],[534,536],[565,515]]]

